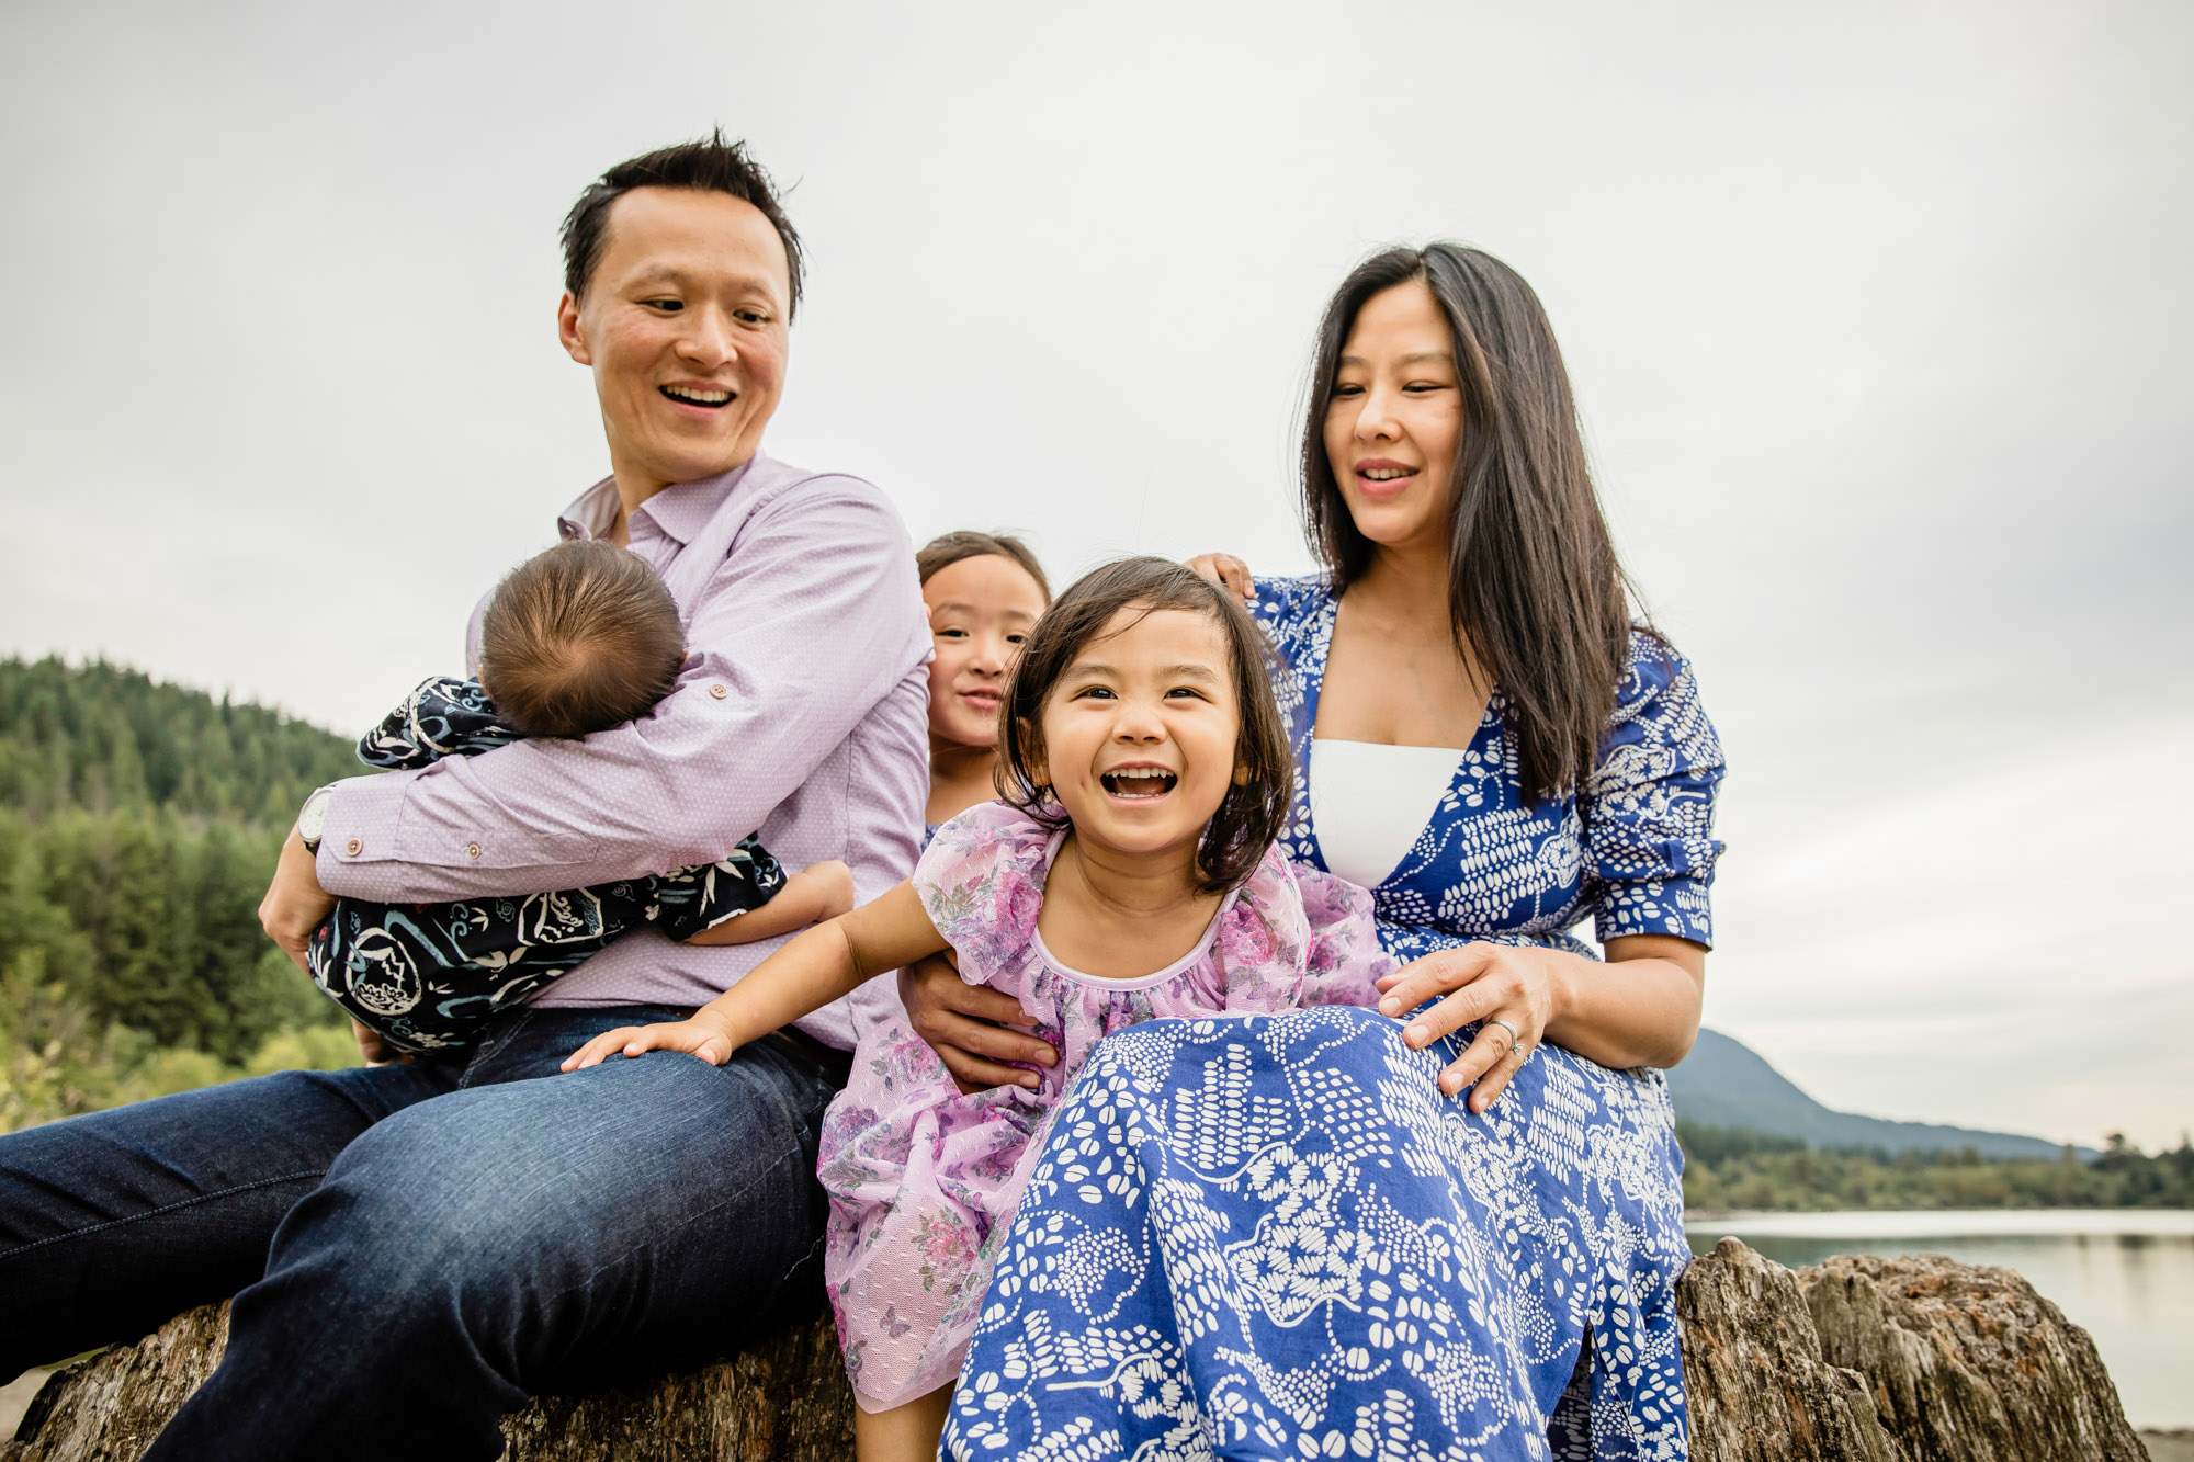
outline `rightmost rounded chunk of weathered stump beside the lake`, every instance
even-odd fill
[[[1832,1258],[1799,1286],[1830,1365],[1867,1376],[1915,1458],[2148,1458],[2095,1341],[2010,1269]]]

